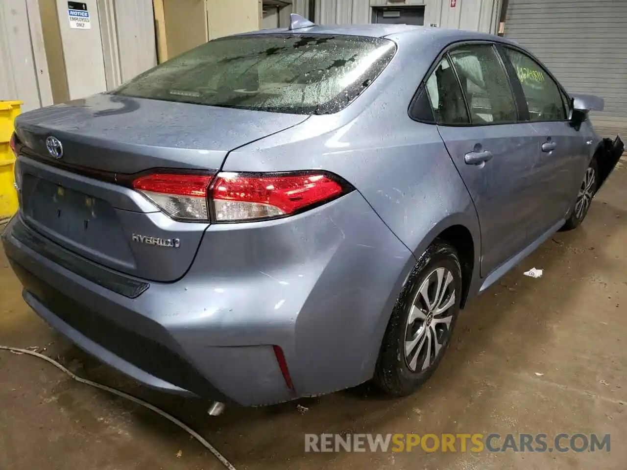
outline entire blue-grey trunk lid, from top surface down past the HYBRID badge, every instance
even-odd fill
[[[84,258],[174,281],[191,265],[209,222],[174,221],[120,182],[157,169],[213,175],[230,150],[305,119],[106,94],[24,113],[16,121],[21,215]],[[48,150],[49,137],[62,155]]]

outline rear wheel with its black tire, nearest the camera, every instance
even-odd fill
[[[453,294],[455,295],[455,299],[453,300],[450,308],[445,311],[447,316],[449,313],[451,316],[448,327],[446,327],[445,323],[442,322],[442,319],[444,318],[443,315],[445,313],[436,315],[435,318],[432,316],[431,320],[428,320],[429,314],[425,313],[428,309],[425,308],[426,303],[424,303],[424,298],[419,293],[419,290],[423,287],[423,285],[425,285],[425,283],[428,285],[426,287],[426,291],[428,293],[434,292],[432,286],[438,283],[438,274],[443,272],[439,268],[443,268],[445,273],[451,273],[451,285]],[[433,275],[436,276],[435,280],[431,279]],[[448,274],[442,275],[447,276],[448,278]],[[427,282],[428,279],[429,282]],[[432,280],[433,282],[431,282]],[[445,280],[446,279],[444,279],[444,281]],[[403,291],[396,301],[392,316],[386,328],[386,333],[381,344],[381,350],[379,352],[379,358],[377,360],[374,375],[375,384],[386,392],[386,394],[396,397],[403,397],[412,394],[416,389],[418,389],[418,387],[420,387],[420,385],[424,384],[424,382],[431,377],[433,372],[435,372],[442,357],[448,349],[448,346],[450,345],[451,334],[453,332],[453,328],[455,327],[460,310],[461,295],[461,266],[458,254],[455,248],[453,248],[450,244],[441,240],[436,240],[433,244],[431,244],[431,246],[429,246],[428,249],[426,249],[418,260],[418,263],[414,267],[412,273],[409,275],[409,278],[403,287]],[[429,296],[430,295],[428,295],[428,297]],[[450,296],[447,296],[447,291],[442,294],[440,299],[441,302],[439,303],[439,306],[446,306],[446,303],[451,300]],[[425,319],[421,320],[421,318],[415,316],[416,314],[414,313],[414,323],[412,325],[408,325],[414,301],[422,306],[419,308],[419,315],[424,316]],[[434,304],[437,303],[437,301],[434,301]],[[435,306],[437,307],[438,305]],[[415,337],[419,336],[420,331],[431,333],[431,335],[427,335],[431,337],[433,337],[433,334],[442,335],[442,343],[440,345],[440,340],[438,340],[440,349],[439,352],[436,353],[435,343],[432,344],[429,338],[424,339],[424,344],[422,345],[421,350],[419,353],[416,353],[417,360],[414,361],[415,366],[414,370],[412,370],[410,359],[407,357],[408,355],[405,352],[405,346],[408,338],[415,338],[413,328],[416,328],[416,323],[420,321],[424,326],[424,330],[421,330],[421,327],[418,328],[418,331],[414,333],[416,335]],[[436,324],[436,321],[440,321],[440,323]],[[435,326],[432,328],[430,325]],[[443,327],[446,327],[446,331]],[[429,328],[431,328],[430,331]],[[425,333],[423,333],[423,335],[424,334]],[[426,342],[428,340],[430,363],[428,367],[423,369],[423,359],[426,359]],[[411,344],[413,342],[410,341],[409,343]],[[420,349],[420,345],[421,343],[418,342],[416,347]],[[413,351],[415,350],[416,349]],[[409,356],[413,357],[413,354],[410,354]]]

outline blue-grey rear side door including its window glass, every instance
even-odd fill
[[[515,95],[492,43],[452,48],[429,77],[438,130],[475,203],[487,276],[527,246],[535,192],[535,132],[519,122]]]

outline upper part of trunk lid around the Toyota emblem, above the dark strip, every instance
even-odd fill
[[[53,136],[63,144],[63,164],[133,174],[157,167],[219,169],[229,150],[305,119],[101,94],[24,113],[16,132],[46,159],[46,138]]]

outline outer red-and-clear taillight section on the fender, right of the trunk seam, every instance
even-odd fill
[[[344,193],[344,187],[321,172],[288,175],[220,173],[210,197],[216,222],[287,216]]]

